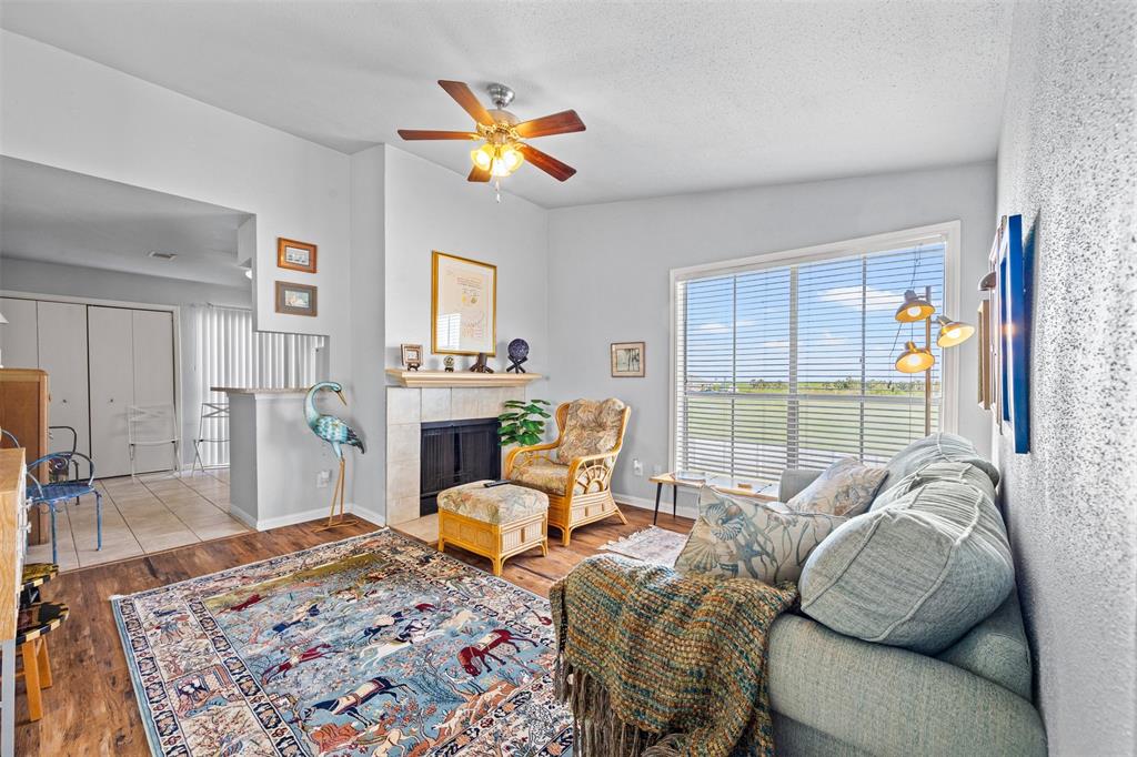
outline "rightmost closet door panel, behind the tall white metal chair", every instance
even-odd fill
[[[174,314],[160,310],[132,310],[134,332],[134,405],[165,406],[169,409],[171,427],[155,429],[159,436],[180,436],[174,398]],[[168,471],[175,465],[172,444],[139,447],[134,467],[144,471]],[[181,465],[177,460],[176,465]]]

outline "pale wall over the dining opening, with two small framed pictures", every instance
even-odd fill
[[[257,327],[327,334],[347,375],[346,155],[0,31],[0,153],[256,214]],[[316,275],[276,268],[276,238],[314,242]],[[319,286],[316,318],[277,315],[274,281]]]

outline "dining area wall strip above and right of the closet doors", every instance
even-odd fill
[[[181,278],[143,276],[117,271],[20,260],[0,255],[0,290],[31,294],[55,294],[84,299],[176,305],[181,339],[179,389],[182,402],[182,459],[193,460],[191,440],[198,432],[200,396],[196,391],[193,360],[193,313],[189,306],[211,302],[227,307],[252,306],[251,288],[204,284]]]

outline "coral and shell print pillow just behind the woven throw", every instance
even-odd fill
[[[813,548],[847,518],[794,513],[780,502],[699,492],[699,517],[675,560],[684,575],[797,581]]]

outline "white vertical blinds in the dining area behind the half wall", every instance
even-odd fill
[[[229,401],[211,386],[302,388],[318,380],[324,336],[256,332],[252,313],[239,308],[201,307],[196,319],[197,375],[204,402]],[[197,424],[200,408],[192,409]],[[229,438],[225,418],[207,418],[202,426],[204,438]],[[201,444],[201,457],[205,465],[227,465],[229,444]]]

